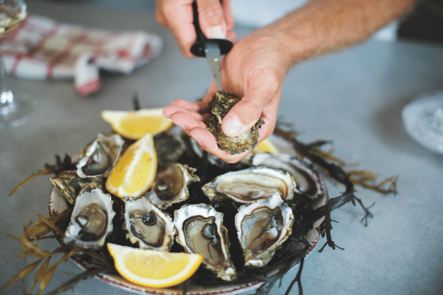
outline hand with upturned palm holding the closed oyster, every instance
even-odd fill
[[[285,40],[272,26],[258,29],[235,43],[223,59],[224,89],[242,97],[222,120],[221,128],[225,135],[233,137],[244,133],[260,116],[265,123],[259,129],[258,141],[274,131],[281,87],[291,61],[289,52],[285,50]],[[225,162],[235,163],[251,151],[235,155],[221,151],[212,133],[206,130],[205,117],[200,114],[216,91],[213,82],[202,102],[176,100],[163,109],[163,114],[203,149]]]

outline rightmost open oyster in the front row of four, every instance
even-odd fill
[[[278,193],[269,199],[240,206],[235,227],[245,266],[263,267],[292,232],[294,215]]]

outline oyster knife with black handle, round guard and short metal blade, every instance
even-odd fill
[[[221,56],[227,54],[233,44],[226,39],[208,39],[200,28],[198,21],[197,3],[192,2],[193,25],[197,34],[196,42],[191,46],[190,52],[196,57],[205,57],[214,77],[217,90],[222,90],[221,81]]]

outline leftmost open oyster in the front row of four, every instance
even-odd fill
[[[101,248],[113,230],[112,203],[111,195],[98,188],[82,190],[75,201],[64,243],[85,249]]]

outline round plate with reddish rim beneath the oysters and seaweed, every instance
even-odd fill
[[[323,206],[327,203],[328,197],[327,194],[324,194],[323,197],[319,198],[318,200],[314,201],[311,205],[314,209],[320,206]],[[68,205],[65,199],[62,195],[60,195],[54,188],[51,190],[50,198],[49,198],[49,214],[52,214],[52,212],[62,212],[63,210],[67,209]],[[306,236],[307,241],[311,243],[311,248],[307,251],[305,257],[307,257],[316,247],[318,241],[320,240],[321,235],[315,230],[316,227],[320,225],[320,223],[323,221],[323,219],[317,220],[312,227],[312,230],[310,230]],[[59,243],[62,243],[61,240],[59,240]],[[298,245],[295,245],[294,249],[303,249],[304,244],[299,243]],[[300,257],[301,259],[301,257]],[[83,269],[87,270],[88,266],[85,262],[81,261],[80,259],[72,258],[72,260]],[[292,268],[298,265],[299,262],[296,262]],[[134,293],[139,294],[148,294],[148,295],[182,295],[183,289],[181,288],[181,285],[170,287],[170,288],[163,288],[163,289],[156,289],[156,288],[149,288],[144,287],[140,285],[136,285],[134,283],[131,283],[124,279],[123,277],[119,275],[97,275],[97,277],[111,285],[114,285],[116,287],[122,288],[127,291],[131,291]],[[242,283],[242,284],[226,284],[219,287],[202,287],[197,285],[190,285],[190,287],[187,290],[187,294],[189,295],[237,295],[241,293],[246,293],[253,291],[263,285],[265,282],[252,282],[252,283]]]

